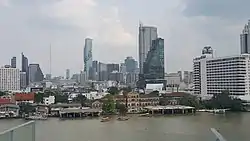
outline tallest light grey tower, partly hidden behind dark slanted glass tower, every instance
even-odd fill
[[[146,61],[147,54],[152,45],[152,41],[157,39],[157,28],[151,26],[143,26],[140,24],[139,27],[139,68],[140,74],[143,74],[143,65]]]

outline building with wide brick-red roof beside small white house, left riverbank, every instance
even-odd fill
[[[16,93],[15,94],[15,102],[19,103],[34,103],[35,93]]]

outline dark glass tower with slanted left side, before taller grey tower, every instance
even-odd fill
[[[164,79],[164,39],[153,40],[143,67],[144,79]]]

